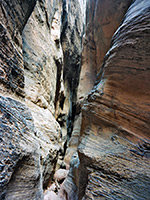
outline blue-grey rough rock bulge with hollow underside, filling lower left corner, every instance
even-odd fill
[[[22,103],[0,96],[0,199],[43,198],[40,146]]]

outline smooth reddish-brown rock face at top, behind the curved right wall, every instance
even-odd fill
[[[110,48],[111,38],[131,2],[132,0],[87,0],[78,99],[87,95],[95,84],[104,56]]]

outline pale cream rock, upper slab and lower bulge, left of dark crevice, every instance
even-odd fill
[[[55,119],[60,112],[56,111],[58,96],[63,92],[61,7],[57,0],[37,1],[23,31],[25,97],[40,143],[44,187],[47,187],[62,151],[61,128]]]

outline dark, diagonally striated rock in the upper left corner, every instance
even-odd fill
[[[35,2],[35,0],[0,1],[1,92],[13,91],[24,96],[21,34]]]

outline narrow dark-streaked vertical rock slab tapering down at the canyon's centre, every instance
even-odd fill
[[[61,44],[64,57],[63,79],[68,93],[69,113],[67,117],[67,139],[64,154],[72,135],[76,114],[77,88],[79,84],[84,15],[81,2],[63,1]]]

